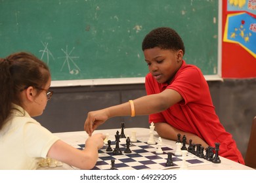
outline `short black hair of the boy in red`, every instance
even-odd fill
[[[182,50],[185,54],[184,43],[179,34],[169,27],[153,29],[144,37],[142,50],[159,47],[164,50]]]

